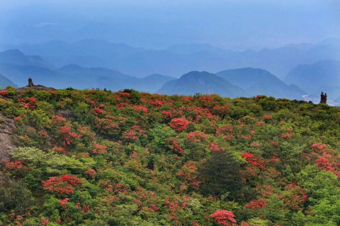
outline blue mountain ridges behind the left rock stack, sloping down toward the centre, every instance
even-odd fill
[[[31,77],[39,84],[55,88],[107,88],[113,91],[133,88],[139,91],[155,92],[164,83],[175,79],[159,74],[136,78],[124,75],[117,70],[103,67],[81,67],[76,64],[55,68],[43,58],[26,56],[17,49],[0,52],[0,73],[6,75],[18,86],[27,85],[27,79]]]

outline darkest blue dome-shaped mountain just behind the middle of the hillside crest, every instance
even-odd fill
[[[191,71],[184,74],[179,79],[165,83],[157,93],[167,95],[219,94],[232,98],[245,96],[245,92],[240,87],[207,71]]]

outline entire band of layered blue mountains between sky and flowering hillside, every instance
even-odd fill
[[[55,88],[133,88],[229,97],[263,94],[289,99],[318,97],[325,91],[331,99],[340,96],[339,39],[260,51],[232,51],[209,44],[155,50],[103,40],[2,44],[0,50],[4,50],[0,73],[18,86],[27,85],[32,77],[35,83]]]

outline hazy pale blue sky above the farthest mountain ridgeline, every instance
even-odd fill
[[[0,43],[104,39],[234,50],[340,37],[339,0],[0,0]]]

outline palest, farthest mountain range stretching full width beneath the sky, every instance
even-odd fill
[[[187,71],[220,71],[226,68],[254,67],[271,71],[280,79],[299,64],[319,60],[340,60],[340,40],[318,44],[290,44],[260,51],[231,51],[208,44],[179,44],[164,50],[136,48],[103,40],[74,43],[54,40],[45,44],[0,45],[0,50],[19,49],[26,55],[38,55],[57,67],[78,64],[104,67],[135,77],[162,74],[179,77]]]

